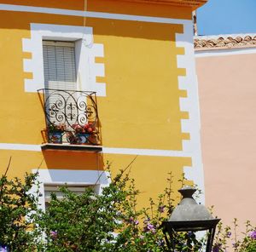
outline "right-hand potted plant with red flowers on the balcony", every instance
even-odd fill
[[[84,125],[73,124],[72,128],[74,130],[73,143],[75,144],[86,144],[90,142],[90,136],[94,135],[96,130],[94,123],[90,122]]]

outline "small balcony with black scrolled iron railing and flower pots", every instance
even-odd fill
[[[42,149],[101,152],[96,92],[39,89],[45,115]]]

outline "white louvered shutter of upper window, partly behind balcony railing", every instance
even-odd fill
[[[77,98],[75,97],[76,94],[73,92],[55,92],[47,89],[77,89],[74,43],[43,41],[43,57],[45,94],[49,97],[46,104],[46,111],[49,114],[53,110],[58,111],[58,115],[66,114],[69,124],[67,128],[71,129],[70,125],[77,120],[76,103],[74,101]],[[72,94],[72,96],[69,94]],[[63,99],[66,101],[63,102]],[[66,104],[65,107],[62,106],[63,104]],[[71,106],[73,107],[72,110],[70,110]],[[57,114],[54,113],[53,115],[55,116],[50,117],[51,123],[67,124],[65,117],[57,117]]]

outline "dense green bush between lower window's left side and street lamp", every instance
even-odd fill
[[[62,187],[63,198],[52,194],[39,228],[46,234],[47,251],[165,251],[159,229],[164,220],[162,198],[158,210],[137,211],[134,181],[120,171],[101,195],[87,188],[77,195]],[[152,215],[148,214],[148,210]]]

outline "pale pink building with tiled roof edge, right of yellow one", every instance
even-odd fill
[[[207,206],[256,223],[256,36],[195,37]]]

